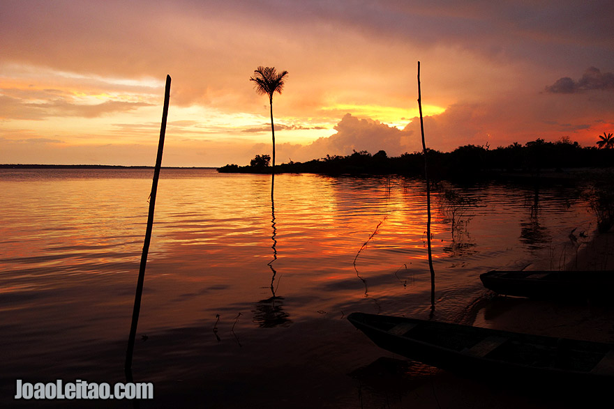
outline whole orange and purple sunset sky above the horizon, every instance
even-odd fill
[[[163,166],[614,132],[611,0],[3,0],[0,163]]]

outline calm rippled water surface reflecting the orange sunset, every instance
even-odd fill
[[[152,174],[0,170],[2,399],[19,377],[123,380]],[[360,407],[356,373],[385,352],[345,317],[428,318],[425,196],[420,180],[278,175],[271,203],[270,176],[163,169],[133,364],[156,384],[144,407]],[[588,209],[577,188],[437,186],[434,318],[471,323],[487,270],[563,268]]]

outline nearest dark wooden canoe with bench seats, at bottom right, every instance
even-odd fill
[[[380,348],[461,375],[614,381],[614,344],[359,312],[347,319]]]

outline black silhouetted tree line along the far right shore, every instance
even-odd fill
[[[578,142],[563,138],[557,142],[536,139],[525,145],[518,143],[491,149],[488,145],[465,145],[451,152],[427,149],[430,173],[437,179],[475,178],[493,174],[516,172],[539,176],[543,169],[561,171],[564,168],[611,167],[614,149],[582,147]],[[227,164],[219,172],[271,173],[271,167],[257,155],[250,166]],[[267,162],[266,164],[264,162]],[[275,167],[276,173],[324,173],[339,174],[402,174],[420,176],[424,173],[424,154],[403,153],[389,157],[379,151],[371,155],[367,151],[354,151],[351,155],[327,155],[308,162],[283,163]]]

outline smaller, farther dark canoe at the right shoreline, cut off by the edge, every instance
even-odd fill
[[[613,271],[501,271],[480,275],[482,284],[503,295],[562,300],[614,299]]]

